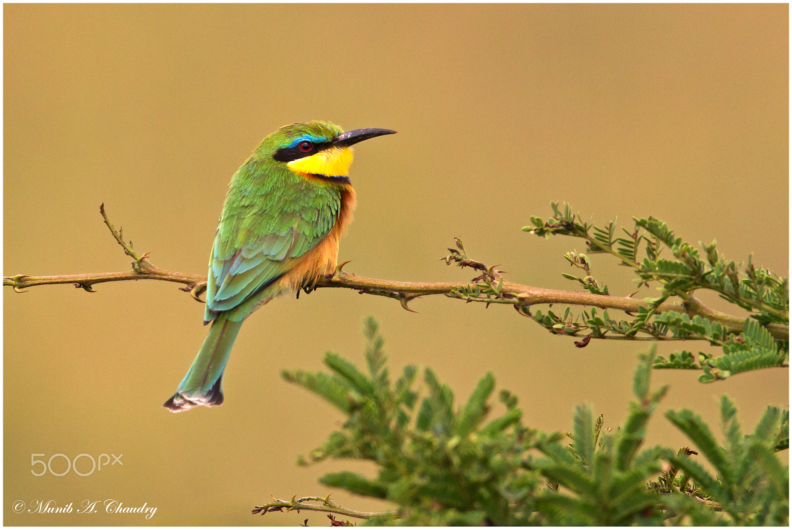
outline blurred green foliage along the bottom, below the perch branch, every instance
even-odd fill
[[[375,478],[350,471],[329,473],[326,486],[397,505],[367,524],[785,524],[787,467],[775,451],[788,447],[789,414],[773,407],[756,431],[743,437],[727,398],[721,448],[690,411],[668,411],[718,475],[688,448],[642,445],[646,426],[667,387],[649,379],[655,349],[643,355],[633,383],[636,401],[623,425],[604,428],[602,416],[578,406],[573,432],[543,433],[522,423],[517,398],[499,394],[503,410],[489,418],[495,380],[486,374],[461,406],[451,388],[425,369],[408,365],[391,381],[378,324],[369,318],[361,371],[328,353],[331,373],[285,371],[345,414],[342,428],[300,463],[327,458],[376,464]],[[784,482],[786,480],[786,482]]]

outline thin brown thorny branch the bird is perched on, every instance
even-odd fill
[[[138,254],[131,242],[124,241],[123,229],[116,231],[110,223],[105,213],[105,205],[100,207],[105,224],[109,228],[116,242],[124,248],[133,260],[132,270],[119,273],[91,273],[91,274],[71,274],[63,276],[29,276],[17,274],[16,276],[4,276],[3,285],[13,288],[14,292],[26,292],[25,290],[37,285],[50,284],[74,284],[76,288],[82,288],[87,292],[94,292],[93,285],[109,281],[122,280],[163,280],[185,284],[180,288],[181,291],[190,293],[193,299],[203,302],[200,294],[206,290],[206,276],[197,274],[185,274],[159,269],[152,265],[148,259],[148,254]],[[638,312],[638,309],[645,306],[641,299],[623,298],[620,296],[596,295],[588,292],[559,291],[556,289],[543,289],[531,287],[529,285],[515,284],[506,281],[501,276],[503,271],[495,269],[495,266],[488,267],[481,262],[474,261],[464,254],[462,243],[456,239],[457,248],[448,249],[451,254],[442,258],[447,264],[452,262],[460,267],[470,267],[482,274],[469,282],[447,282],[447,283],[425,283],[425,282],[402,282],[377,280],[355,276],[345,273],[342,269],[348,263],[338,265],[335,273],[320,278],[316,284],[304,286],[304,292],[311,292],[315,288],[345,288],[353,289],[360,294],[375,296],[386,296],[387,298],[397,299],[407,311],[412,311],[408,303],[419,296],[444,295],[450,298],[466,300],[466,302],[485,303],[489,307],[490,303],[505,303],[513,306],[520,315],[533,318],[530,307],[540,303],[559,303],[575,306],[600,307],[603,309],[617,309],[628,314]],[[299,292],[298,292],[299,296]],[[730,331],[740,333],[744,326],[744,319],[733,315],[714,311],[706,307],[699,299],[690,296],[684,300],[683,304],[663,303],[657,307],[657,312],[678,311],[687,313],[691,317],[700,315],[712,320],[721,322]],[[770,323],[767,330],[773,337],[789,340],[789,326]],[[568,333],[569,336],[579,337],[579,334]],[[587,337],[588,338],[588,337]],[[619,337],[604,336],[598,338],[627,339],[627,340],[657,340],[658,337]],[[668,339],[666,339],[668,340]],[[584,340],[588,342],[588,340]]]

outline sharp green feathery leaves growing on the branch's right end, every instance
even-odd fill
[[[553,234],[584,239],[589,254],[611,254],[620,265],[634,269],[638,286],[657,284],[660,296],[645,298],[637,314],[630,319],[610,318],[596,309],[582,311],[575,317],[569,310],[560,317],[552,311],[537,311],[535,320],[553,333],[579,335],[588,331],[584,346],[591,338],[619,336],[637,338],[638,334],[653,340],[705,340],[722,347],[723,355],[699,352],[695,357],[687,350],[677,351],[666,360],[658,357],[655,368],[695,369],[703,373],[699,381],[710,383],[741,372],[759,368],[786,366],[789,342],[771,336],[767,324],[789,324],[789,280],[779,278],[768,269],[757,268],[748,257],[748,264],[728,261],[717,250],[716,242],[701,243],[702,252],[676,237],[659,219],[634,219],[630,230],[622,228],[623,237],[616,237],[615,219],[598,227],[573,214],[568,204],[559,208],[552,204],[554,215],[548,220],[531,217],[532,226],[523,230],[542,237]],[[661,257],[665,252],[668,257]],[[643,254],[643,257],[642,257]],[[600,285],[592,276],[592,264],[586,254],[569,252],[565,259],[584,271],[584,276],[564,273],[589,292],[607,294],[607,285]],[[695,299],[692,293],[707,289],[749,312],[744,322],[728,315],[690,315],[677,311],[661,311],[669,298],[678,297],[685,307]],[[693,307],[695,310],[695,307]],[[648,336],[648,337],[647,337]]]

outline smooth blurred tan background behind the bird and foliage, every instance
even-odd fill
[[[520,231],[566,200],[600,223],[654,215],[787,274],[785,5],[6,5],[4,15],[6,276],[128,269],[101,202],[154,265],[206,273],[231,174],[265,135],[310,119],[398,131],[356,148],[348,272],[469,280],[439,261],[459,236],[508,280],[574,289],[562,256],[581,243]],[[634,291],[630,271],[593,264],[612,293]],[[96,290],[3,291],[5,524],[326,524],[249,510],[271,495],[327,494],[317,479],[328,471],[373,471],[295,465],[341,415],[279,376],[321,368],[328,349],[362,361],[367,315],[382,322],[392,371],[430,365],[462,400],[491,370],[520,396],[527,424],[546,430],[571,429],[579,402],[619,425],[643,349],[577,349],[509,307],[437,297],[414,301],[416,315],[322,289],[249,319],[223,406],[169,414],[162,402],[207,331],[203,306],[163,282]],[[680,347],[709,348],[660,349]],[[649,443],[687,443],[663,418],[669,408],[693,408],[717,430],[723,393],[746,431],[767,404],[788,406],[786,369],[708,386],[697,375],[654,374],[671,391]],[[32,453],[123,453],[123,467],[36,477]],[[109,498],[158,511],[12,509]]]

